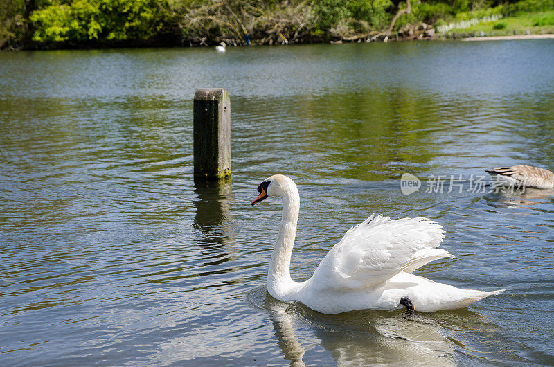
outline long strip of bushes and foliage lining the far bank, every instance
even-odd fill
[[[387,30],[399,10],[411,11],[395,17],[391,29],[492,12],[553,10],[554,0],[406,5],[406,0],[0,0],[0,48],[352,41]]]

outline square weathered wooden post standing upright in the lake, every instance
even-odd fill
[[[227,89],[197,89],[194,102],[195,178],[231,175],[231,101]]]

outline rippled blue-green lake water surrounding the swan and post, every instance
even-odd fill
[[[554,364],[554,193],[470,188],[554,168],[554,42],[0,54],[3,365]],[[232,181],[192,178],[193,94],[231,93]],[[400,176],[422,179],[403,195]],[[265,290],[292,177],[308,278],[371,213],[445,226],[417,274],[506,289],[462,310],[323,315]],[[443,193],[431,175],[444,175]],[[465,180],[449,191],[449,177]]]

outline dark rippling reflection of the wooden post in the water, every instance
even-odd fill
[[[213,252],[223,250],[232,239],[233,233],[229,229],[233,220],[232,193],[229,179],[195,180],[195,242],[199,244],[206,258],[213,258]]]

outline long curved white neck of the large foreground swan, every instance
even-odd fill
[[[296,222],[300,211],[300,196],[296,185],[287,187],[283,195],[283,219],[279,226],[277,243],[275,244],[269,271],[267,272],[267,289],[271,296],[285,299],[296,282],[290,277],[290,258],[294,238],[296,237]]]

